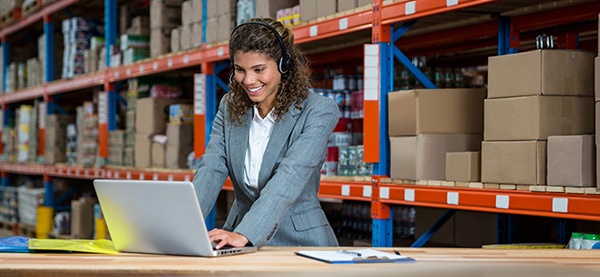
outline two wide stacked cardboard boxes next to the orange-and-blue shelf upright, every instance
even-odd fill
[[[389,93],[391,177],[444,180],[446,153],[479,151],[484,89]]]

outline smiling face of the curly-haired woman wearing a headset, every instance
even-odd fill
[[[260,103],[261,112],[268,113],[275,106],[281,73],[277,64],[263,53],[241,52],[234,55],[235,80],[255,103]]]

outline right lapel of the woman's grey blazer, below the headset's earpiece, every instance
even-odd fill
[[[258,173],[259,191],[262,190],[271,177],[271,172],[279,159],[281,149],[288,142],[288,137],[296,125],[296,120],[298,119],[300,112],[301,110],[296,109],[292,104],[290,110],[283,115],[283,119],[277,120],[277,123],[273,126],[271,138],[269,139],[269,143],[267,143],[267,148],[265,149],[263,161]]]

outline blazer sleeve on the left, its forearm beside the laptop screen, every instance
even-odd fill
[[[225,148],[226,98],[221,99],[210,134],[210,141],[192,180],[204,219],[212,210],[229,175]]]

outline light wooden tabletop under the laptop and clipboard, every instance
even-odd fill
[[[412,264],[333,265],[294,254],[316,249],[339,248],[263,247],[256,253],[219,258],[0,253],[0,276],[600,276],[596,250],[396,248],[417,260]]]

